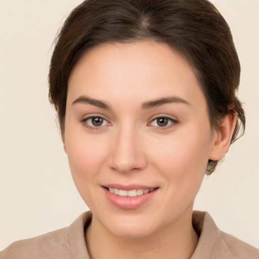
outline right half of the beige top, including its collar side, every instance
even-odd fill
[[[191,259],[259,259],[259,250],[221,231],[207,212],[193,212],[193,227],[199,234]]]

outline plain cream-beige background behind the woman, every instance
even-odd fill
[[[55,34],[80,1],[0,0],[0,250],[68,226],[87,206],[70,176],[48,103]],[[225,232],[259,247],[259,1],[214,0],[239,53],[245,136],[204,180],[195,208]]]

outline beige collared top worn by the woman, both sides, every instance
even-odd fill
[[[84,233],[92,219],[81,214],[69,227],[12,243],[0,252],[0,259],[90,259]],[[193,212],[193,226],[199,234],[191,259],[258,259],[259,250],[220,231],[207,212]]]

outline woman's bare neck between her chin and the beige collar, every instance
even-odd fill
[[[90,257],[188,259],[198,243],[198,236],[192,227],[191,214],[188,216],[179,217],[174,224],[163,226],[152,235],[134,238],[113,235],[93,216],[86,233]]]

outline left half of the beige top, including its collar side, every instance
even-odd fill
[[[92,213],[84,212],[67,228],[16,241],[0,252],[0,259],[89,259],[84,231],[91,219]]]

